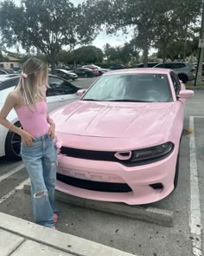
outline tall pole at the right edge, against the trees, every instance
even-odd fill
[[[201,17],[201,36],[199,41],[199,56],[196,69],[196,75],[194,79],[194,86],[202,82],[202,62],[204,53],[204,0],[202,1],[202,17]]]

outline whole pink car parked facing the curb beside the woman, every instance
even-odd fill
[[[80,101],[52,118],[62,142],[56,189],[130,205],[162,200],[176,187],[186,90],[169,69],[102,75]]]

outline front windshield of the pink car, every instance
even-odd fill
[[[104,75],[82,99],[98,102],[172,102],[167,75]]]

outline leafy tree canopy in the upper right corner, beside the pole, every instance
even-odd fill
[[[201,0],[172,0],[161,13],[154,46],[159,49],[163,61],[166,56],[186,57],[190,41],[194,38],[195,24],[201,15]],[[198,24],[198,23],[197,23]]]

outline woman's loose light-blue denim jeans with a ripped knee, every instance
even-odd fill
[[[54,204],[57,163],[55,141],[49,135],[36,137],[32,146],[22,145],[21,152],[22,161],[31,181],[31,201],[35,223],[52,227],[54,213],[57,212]]]

